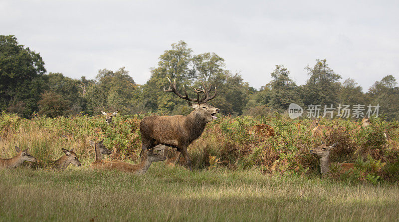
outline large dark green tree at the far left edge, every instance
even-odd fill
[[[46,72],[39,53],[18,44],[13,35],[0,35],[0,109],[28,117],[46,89]]]

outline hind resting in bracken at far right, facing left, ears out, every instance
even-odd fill
[[[322,142],[322,144],[314,149],[310,150],[310,153],[320,158],[320,170],[323,176],[327,175],[330,172],[330,152],[337,146],[338,143],[334,143],[329,146]],[[341,173],[353,169],[355,164],[352,163],[334,163],[339,166],[342,166]]]

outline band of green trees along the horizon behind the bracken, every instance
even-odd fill
[[[39,53],[18,43],[13,35],[0,35],[0,110],[29,118],[33,113],[49,117],[98,115],[100,110],[119,110],[122,114],[161,113],[188,114],[192,108],[173,93],[166,77],[182,85],[200,87],[200,80],[217,86],[211,104],[222,113],[262,116],[270,111],[284,112],[290,103],[337,106],[338,104],[380,105],[380,114],[399,119],[399,87],[393,75],[376,81],[366,93],[354,79],[342,81],[339,74],[317,59],[305,67],[308,80],[297,85],[290,71],[276,65],[272,80],[259,90],[245,82],[239,72],[226,68],[224,59],[215,53],[194,54],[184,41],[171,45],[159,56],[151,77],[136,84],[125,67],[101,69],[95,79],[72,79],[62,73],[47,74]],[[190,96],[195,92],[187,90]]]

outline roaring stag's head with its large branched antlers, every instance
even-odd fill
[[[206,88],[205,83],[203,83],[201,81],[202,89],[197,89],[197,88],[192,87],[194,89],[194,91],[197,93],[197,99],[191,99],[191,98],[189,98],[189,95],[187,94],[187,91],[186,91],[186,88],[184,87],[184,85],[183,85],[183,90],[184,90],[185,95],[183,96],[176,89],[176,79],[173,81],[173,83],[171,82],[171,80],[169,78],[168,78],[168,80],[169,80],[170,86],[168,89],[165,89],[165,87],[164,87],[165,92],[174,92],[180,98],[187,100],[189,105],[195,109],[196,114],[199,115],[200,118],[203,119],[205,122],[210,122],[212,120],[217,119],[217,117],[215,115],[216,115],[216,113],[219,112],[219,109],[207,104],[207,102],[209,100],[215,98],[216,87],[215,87],[214,94],[212,96],[209,96],[209,93],[212,90],[211,85],[209,84],[209,88]],[[202,98],[200,98],[200,93],[203,93]]]

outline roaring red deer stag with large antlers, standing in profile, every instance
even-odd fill
[[[184,86],[183,90],[185,96],[180,94],[176,89],[176,79],[173,83],[169,78],[168,80],[170,86],[168,89],[165,89],[164,87],[164,91],[174,92],[180,98],[187,100],[194,110],[187,116],[175,115],[144,117],[140,122],[140,133],[143,143],[140,156],[143,158],[143,154],[146,150],[162,144],[177,149],[177,155],[179,157],[176,159],[176,163],[179,162],[180,155],[183,154],[188,167],[192,170],[192,164],[187,152],[187,147],[201,136],[206,123],[217,119],[215,114],[219,112],[219,109],[207,104],[209,100],[216,96],[216,87],[214,94],[209,96],[212,89],[211,85],[209,84],[209,89],[207,89],[205,84],[201,81],[202,89],[192,87],[197,93],[197,99],[191,99],[189,98]],[[200,93],[204,94],[204,97],[201,99]],[[190,101],[194,103],[191,103]]]

